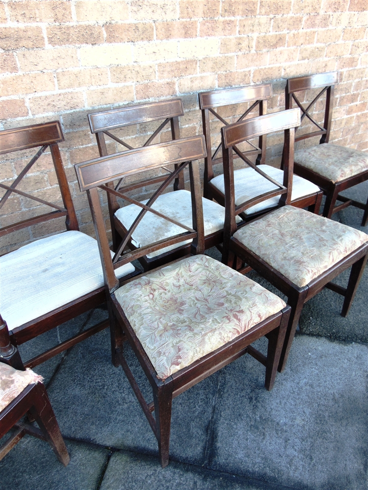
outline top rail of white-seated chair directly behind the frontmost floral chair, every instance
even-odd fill
[[[183,115],[182,99],[174,98],[172,100],[120,107],[109,111],[92,112],[88,114],[88,122],[91,133],[98,133],[108,129],[130,126],[131,124],[148,123]]]

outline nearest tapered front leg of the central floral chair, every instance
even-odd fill
[[[162,383],[154,393],[158,456],[163,468],[169,464],[172,395],[172,380]]]

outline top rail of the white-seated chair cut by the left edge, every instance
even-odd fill
[[[64,141],[59,121],[0,131],[0,154]]]

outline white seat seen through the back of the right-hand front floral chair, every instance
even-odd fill
[[[284,172],[282,170],[275,169],[275,167],[271,167],[270,165],[259,165],[258,168],[277,182],[280,182],[280,184],[283,183]],[[234,183],[236,206],[242,204],[248,199],[261,196],[266,192],[277,189],[276,185],[265,179],[262,175],[257,173],[251,167],[236,170],[234,172]],[[222,194],[225,194],[223,175],[218,175],[217,177],[214,177],[211,180],[211,184],[214,185],[216,189],[218,189]],[[299,197],[309,196],[310,194],[315,194],[318,191],[319,187],[317,187],[309,180],[303,179],[298,175],[293,175],[291,200],[298,199]],[[246,209],[244,211],[244,214],[250,215],[268,208],[275,207],[277,206],[279,200],[280,196],[271,197],[270,199],[267,199]]]

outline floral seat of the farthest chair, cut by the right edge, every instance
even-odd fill
[[[352,148],[322,143],[295,151],[294,162],[336,183],[368,171],[368,154]]]

